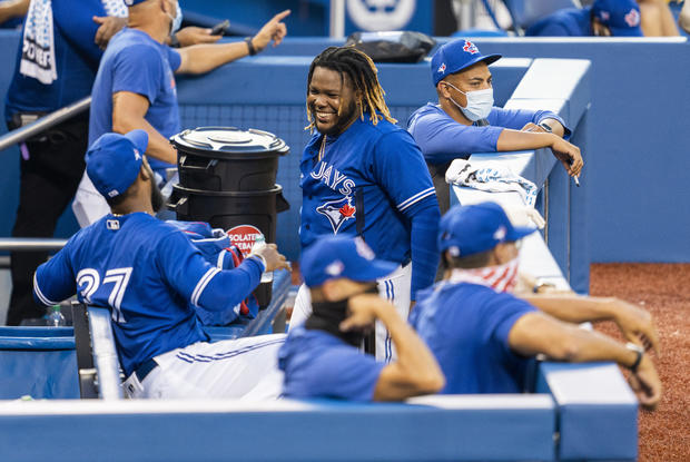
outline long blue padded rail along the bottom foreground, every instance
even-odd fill
[[[422,403],[0,403],[0,451],[13,462],[554,460],[549,395]]]

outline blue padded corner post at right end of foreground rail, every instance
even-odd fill
[[[542,363],[536,392],[556,402],[560,460],[637,459],[638,401],[615,364]]]

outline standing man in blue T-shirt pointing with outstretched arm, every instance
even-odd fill
[[[280,43],[287,29],[276,14],[259,32],[244,41],[203,43],[172,49],[166,41],[181,23],[176,0],[126,0],[127,28],[116,35],[100,62],[91,92],[89,144],[105,132],[142,129],[149,135],[146,153],[158,180],[175,167],[177,151],[168,138],[180,131],[174,72],[204,73],[262,51],[270,41]],[[79,185],[72,206],[81,226],[108,213],[108,206],[88,175]]]

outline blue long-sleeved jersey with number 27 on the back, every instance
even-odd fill
[[[154,356],[207,341],[193,306],[231,309],[258,285],[263,269],[247,258],[220,271],[172,225],[146,213],[107,215],[39,266],[33,294],[45,305],[77,293],[81,302],[109,307],[129,375]]]

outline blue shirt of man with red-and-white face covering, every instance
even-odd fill
[[[421,293],[410,322],[446,377],[440,393],[523,392],[531,360],[513,353],[507,337],[534,311],[480,284],[441,282]]]

